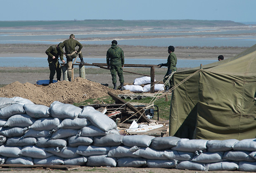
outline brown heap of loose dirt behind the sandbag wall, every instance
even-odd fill
[[[22,97],[38,105],[50,104],[54,101],[62,103],[80,103],[90,98],[101,98],[113,94],[131,93],[129,90],[114,90],[97,82],[76,77],[72,82],[59,81],[47,86],[38,84],[13,82],[0,88],[0,97]]]

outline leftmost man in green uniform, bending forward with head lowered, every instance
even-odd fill
[[[59,43],[59,44],[61,44],[61,43]],[[65,63],[65,61],[63,60],[63,54],[59,51],[59,49],[57,49],[59,47],[59,44],[58,45],[52,45],[45,51],[45,54],[48,55],[47,60],[48,60],[49,69],[50,69],[50,82],[49,82],[49,84],[51,84],[52,81],[53,81],[55,71],[57,73],[57,80],[60,81],[60,77],[62,75],[62,71],[61,71],[61,68],[60,68],[58,58],[60,58],[60,60],[63,63]]]

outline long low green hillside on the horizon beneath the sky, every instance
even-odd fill
[[[0,27],[215,27],[215,26],[245,26],[234,21],[209,20],[84,20],[84,21],[0,21]]]

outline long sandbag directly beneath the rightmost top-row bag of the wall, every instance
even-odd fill
[[[231,150],[224,153],[223,159],[229,161],[255,161],[254,158],[249,156],[250,153],[249,151]]]

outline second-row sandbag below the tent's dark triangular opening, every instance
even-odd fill
[[[176,150],[165,150],[163,155],[168,159],[175,159],[178,161],[188,161],[194,157],[194,153],[192,152],[181,152]]]

